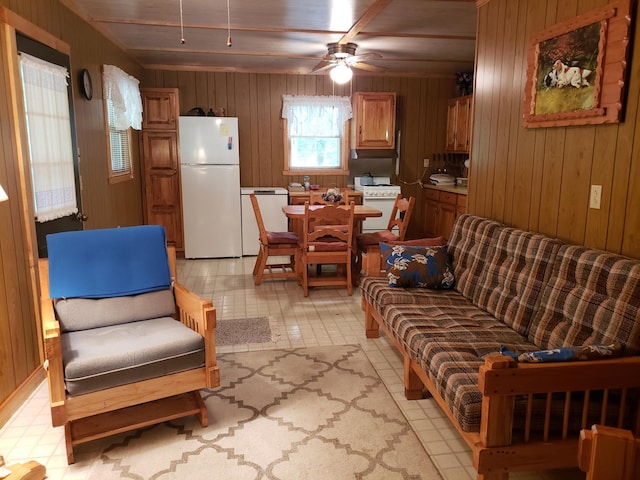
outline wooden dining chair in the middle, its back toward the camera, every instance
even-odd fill
[[[310,208],[305,203],[303,234],[298,255],[304,296],[313,286],[346,286],[352,294],[354,203],[349,208],[325,205]],[[336,265],[336,272],[309,273],[309,265]]]

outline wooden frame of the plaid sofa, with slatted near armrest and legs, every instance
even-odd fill
[[[622,424],[627,394],[640,387],[640,357],[623,357],[567,363],[517,363],[501,355],[488,357],[480,368],[478,388],[482,393],[482,417],[480,432],[465,432],[453,417],[447,401],[438,393],[420,365],[412,360],[385,323],[382,315],[364,298],[367,338],[378,338],[379,329],[403,356],[404,388],[408,400],[423,398],[426,388],[440,408],[467,442],[473,453],[473,465],[479,480],[507,480],[512,471],[537,471],[578,466],[579,434],[568,427],[569,399],[572,394],[583,394],[584,409],[589,405],[590,395],[602,392],[605,401],[601,407],[601,423],[605,423],[604,411],[612,405],[606,399],[612,391],[622,398],[618,408],[617,424]],[[565,394],[562,424],[551,419],[551,394]],[[544,416],[543,433],[534,433],[531,422],[533,395],[547,395],[547,411]],[[527,419],[524,432],[516,432],[514,410],[517,396],[527,398]],[[629,403],[631,400],[629,399]],[[640,434],[638,405],[634,408],[635,435]],[[586,410],[584,410],[586,412]],[[610,415],[610,410],[609,410]],[[586,416],[584,414],[583,418]],[[583,420],[582,429],[589,428]],[[556,435],[555,430],[562,433]]]

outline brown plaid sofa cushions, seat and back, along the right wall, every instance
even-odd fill
[[[361,292],[367,336],[382,327],[462,432],[481,431],[479,372],[501,345],[523,353],[619,342],[625,355],[640,353],[639,261],[473,215],[456,220],[447,250],[452,290],[367,277]],[[516,411],[526,408],[516,400]]]

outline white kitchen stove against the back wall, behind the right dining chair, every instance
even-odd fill
[[[367,218],[362,222],[362,231],[385,230],[389,224],[396,197],[401,193],[400,186],[391,185],[389,177],[354,177],[353,183],[354,190],[362,192],[363,205],[382,211],[381,217]]]

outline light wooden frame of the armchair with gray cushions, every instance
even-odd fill
[[[136,428],[195,414],[207,426],[207,410],[200,396],[202,388],[220,385],[216,363],[216,310],[176,280],[176,252],[167,248],[176,300],[176,319],[204,338],[205,365],[201,368],[120,385],[82,395],[65,391],[60,324],[49,298],[48,260],[39,260],[40,306],[49,383],[51,420],[65,427],[67,460],[74,463],[73,447],[85,442]]]

